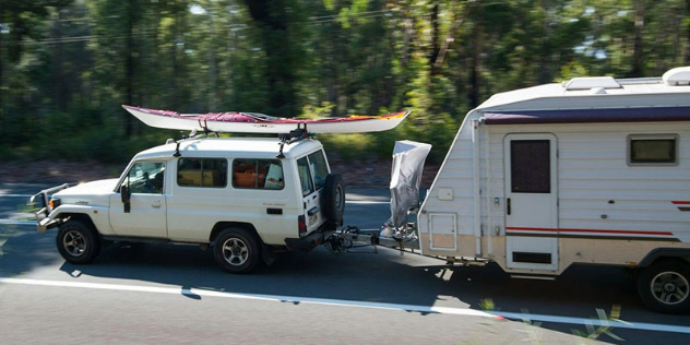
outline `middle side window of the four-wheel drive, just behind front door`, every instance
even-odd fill
[[[227,186],[227,159],[179,158],[177,185],[180,187],[224,188]]]

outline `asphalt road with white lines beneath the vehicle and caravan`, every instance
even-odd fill
[[[230,275],[197,247],[118,243],[73,265],[58,254],[55,231],[16,222],[25,195],[39,189],[0,185],[3,344],[690,343],[690,316],[647,311],[632,277],[610,267],[524,281],[495,264],[449,269],[392,249],[319,248]],[[347,200],[347,224],[376,228],[388,217],[386,191],[350,191]],[[596,310],[614,305],[624,323],[597,341],[573,335],[593,333]]]

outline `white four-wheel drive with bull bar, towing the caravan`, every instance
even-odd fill
[[[69,262],[91,262],[108,241],[169,241],[212,248],[223,270],[245,273],[321,243],[342,225],[345,191],[319,141],[204,136],[143,151],[118,179],[32,202],[38,231],[57,227]]]

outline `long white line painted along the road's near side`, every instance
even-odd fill
[[[292,304],[357,307],[357,308],[369,308],[369,309],[401,310],[401,311],[408,311],[408,312],[414,311],[414,312],[421,312],[421,313],[441,313],[441,314],[454,314],[454,316],[478,317],[478,318],[505,318],[505,319],[511,319],[511,320],[530,320],[530,321],[568,323],[568,324],[579,324],[579,325],[584,325],[584,324],[592,324],[595,326],[608,325],[614,329],[632,329],[632,330],[690,334],[690,326],[682,326],[682,325],[629,322],[629,321],[619,321],[619,320],[598,320],[598,319],[583,319],[583,318],[571,318],[571,317],[556,317],[556,316],[528,314],[528,313],[519,313],[519,312],[499,312],[499,311],[487,312],[487,311],[463,309],[463,308],[427,307],[427,306],[414,306],[414,305],[381,304],[381,302],[367,302],[367,301],[358,301],[358,300],[309,298],[309,297],[295,297],[295,296],[278,296],[278,295],[236,294],[236,293],[226,293],[226,292],[205,290],[205,289],[199,289],[199,288],[154,287],[154,286],[60,282],[60,281],[44,281],[44,279],[0,278],[0,284],[2,283],[16,284],[16,285],[91,288],[91,289],[117,290],[117,292],[154,293],[154,294],[167,294],[167,295],[203,296],[203,297],[218,297],[218,298],[234,298],[234,299],[253,299],[253,300],[264,300],[264,301],[292,302]]]

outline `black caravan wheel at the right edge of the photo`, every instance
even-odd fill
[[[640,272],[638,294],[644,305],[663,313],[690,312],[690,265],[662,260]]]

